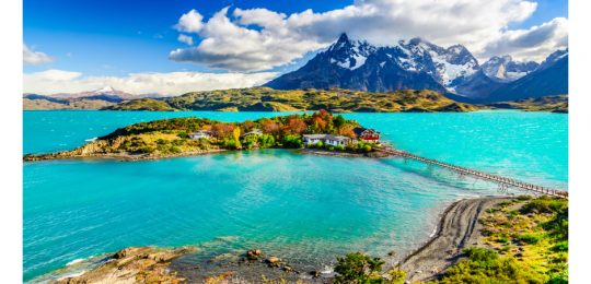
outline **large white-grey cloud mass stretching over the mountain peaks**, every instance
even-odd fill
[[[536,5],[531,0],[357,0],[343,9],[322,13],[305,10],[285,14],[267,9],[224,8],[207,21],[192,10],[181,16],[176,26],[187,26],[187,19],[193,19],[193,26],[198,28],[192,28],[192,33],[202,40],[196,47],[175,49],[169,57],[210,68],[260,71],[293,62],[305,52],[326,47],[346,32],[352,38],[376,45],[394,45],[416,36],[442,46],[462,44],[484,59],[501,50],[517,52],[518,46],[500,48],[500,42],[515,34],[532,33],[531,42],[546,48],[530,48],[517,58],[537,60],[541,54],[547,54],[545,49],[559,47],[564,40],[558,37],[567,31],[566,24],[554,24],[560,32],[536,42],[533,37],[544,37],[533,35],[535,31],[508,29],[511,23],[529,19]]]

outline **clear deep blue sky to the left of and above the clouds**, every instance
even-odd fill
[[[206,17],[231,5],[268,8],[285,13],[305,9],[323,12],[352,1],[141,1],[141,0],[25,0],[24,42],[55,57],[48,66],[25,66],[25,72],[48,67],[76,70],[91,75],[121,75],[130,72],[210,71],[193,63],[167,59],[182,46],[173,26],[192,10]]]

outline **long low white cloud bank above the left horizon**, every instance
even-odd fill
[[[130,94],[182,95],[194,91],[250,87],[277,76],[274,72],[259,73],[131,73],[125,76],[85,76],[80,72],[46,70],[23,75],[24,92],[50,95],[79,93],[112,86]]]

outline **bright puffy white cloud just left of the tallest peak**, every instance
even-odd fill
[[[255,15],[262,15],[256,19]],[[306,51],[323,47],[315,38],[303,34],[289,35],[289,29],[275,26],[285,20],[283,14],[265,9],[234,10],[241,24],[228,17],[228,8],[216,13],[204,24],[202,40],[197,47],[178,48],[170,54],[175,61],[202,63],[211,68],[231,71],[260,71],[289,63]],[[244,17],[243,17],[244,15]],[[263,31],[243,25],[264,25]],[[266,27],[268,26],[268,28]]]

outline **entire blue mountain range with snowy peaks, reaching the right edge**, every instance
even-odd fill
[[[367,92],[428,88],[461,102],[514,100],[568,94],[568,49],[557,50],[542,63],[502,56],[479,64],[462,45],[444,48],[417,37],[378,47],[341,34],[303,67],[264,86]]]

